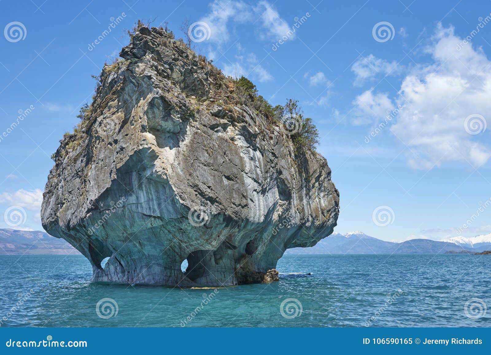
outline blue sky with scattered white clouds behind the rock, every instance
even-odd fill
[[[21,207],[14,228],[41,229],[50,155],[90,102],[91,75],[128,43],[125,28],[155,18],[182,36],[187,17],[206,24],[198,52],[314,119],[341,195],[336,231],[490,233],[490,12],[485,0],[2,0],[0,227]]]

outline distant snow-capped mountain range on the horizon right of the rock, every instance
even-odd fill
[[[443,254],[491,250],[491,234],[444,241],[411,239],[405,242],[385,242],[356,231],[346,234],[332,233],[315,246],[287,249],[285,254]]]

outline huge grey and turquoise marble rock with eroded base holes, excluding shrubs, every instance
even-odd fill
[[[120,56],[87,122],[60,141],[41,210],[94,281],[263,282],[287,248],[332,233],[339,193],[326,160],[224,104],[218,69],[156,27],[140,27]]]

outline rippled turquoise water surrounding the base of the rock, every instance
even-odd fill
[[[277,269],[280,282],[215,291],[94,284],[83,256],[0,256],[0,319],[3,327],[491,326],[491,256],[287,255]],[[96,312],[105,298],[117,303],[107,319]],[[290,318],[280,312],[286,299],[296,299],[283,307]]]

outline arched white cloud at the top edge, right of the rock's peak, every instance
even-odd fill
[[[253,6],[244,1],[215,0],[210,4],[211,12],[200,21],[210,27],[210,42],[222,45],[230,40],[229,27],[233,24],[251,23],[259,27],[259,37],[277,40],[291,27],[282,19],[278,11],[267,1]],[[294,38],[293,34],[290,38]]]

